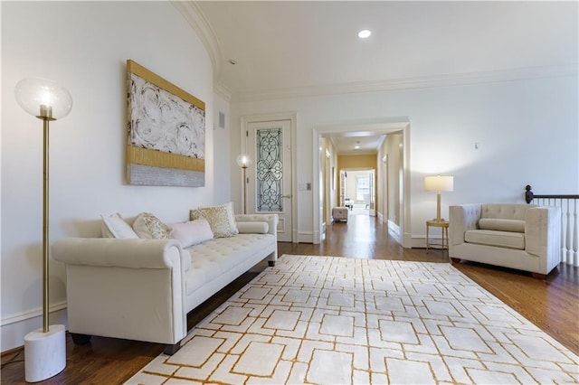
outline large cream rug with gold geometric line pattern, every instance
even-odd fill
[[[127,383],[579,382],[576,354],[448,263],[284,255],[185,341]]]

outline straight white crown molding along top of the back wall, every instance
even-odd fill
[[[577,64],[567,64],[546,67],[527,67],[514,70],[493,70],[467,72],[440,76],[359,81],[325,86],[295,87],[288,89],[271,89],[249,92],[233,92],[232,101],[260,101],[269,99],[290,99],[322,95],[349,93],[366,93],[381,91],[397,91],[405,89],[431,89],[438,87],[453,87],[475,84],[497,83],[515,80],[530,80],[540,78],[556,78],[577,76]]]

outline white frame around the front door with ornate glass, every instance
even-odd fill
[[[280,121],[280,120],[289,120],[290,122],[290,136],[291,136],[291,241],[293,243],[298,243],[298,183],[296,183],[296,132],[297,132],[297,123],[298,123],[298,113],[297,112],[280,112],[275,114],[258,114],[258,115],[245,115],[241,117],[241,127],[242,130],[240,132],[240,136],[242,137],[241,140],[241,148],[240,154],[244,154],[247,152],[247,136],[245,136],[245,132],[248,129],[248,125],[251,123],[260,123],[260,122],[271,122],[271,121]],[[252,159],[255,161],[255,159]],[[240,194],[243,194],[240,191]],[[242,199],[244,197],[242,196]]]

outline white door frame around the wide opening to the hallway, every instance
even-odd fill
[[[320,140],[322,136],[327,136],[329,134],[345,134],[352,132],[372,132],[375,134],[387,134],[395,131],[402,131],[403,133],[403,195],[402,195],[402,211],[403,215],[401,218],[401,230],[402,239],[401,243],[403,248],[412,248],[412,227],[411,227],[411,201],[410,201],[410,120],[408,117],[393,117],[384,118],[381,121],[367,123],[360,122],[360,124],[348,124],[348,125],[334,125],[334,126],[322,126],[313,127],[312,129],[312,164],[313,164],[313,229],[314,229],[314,243],[319,243],[321,239],[321,232],[323,231],[322,218],[321,218],[321,207],[322,207],[322,197],[319,192],[319,174],[321,162],[321,151]],[[377,172],[377,164],[376,164]]]

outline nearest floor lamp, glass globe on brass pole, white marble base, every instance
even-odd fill
[[[16,101],[43,121],[43,327],[24,336],[25,380],[37,382],[60,373],[66,366],[64,325],[48,324],[49,316],[49,123],[68,115],[71,94],[51,80],[24,79],[16,84]]]

